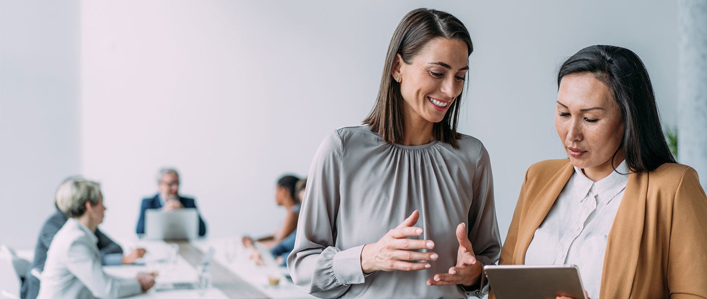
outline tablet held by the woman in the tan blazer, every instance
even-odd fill
[[[587,299],[575,265],[489,265],[484,267],[493,295],[498,299]]]

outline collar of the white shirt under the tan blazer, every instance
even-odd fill
[[[586,191],[581,196],[578,196],[580,200],[587,197],[588,193],[592,193],[592,195],[597,195],[597,200],[608,204],[626,188],[626,183],[629,181],[629,167],[626,166],[626,160],[624,160],[617,166],[615,171],[609,173],[609,176],[594,182],[584,175],[582,169],[575,166],[575,178],[578,182],[581,182],[578,190]],[[589,184],[588,188],[587,184]]]

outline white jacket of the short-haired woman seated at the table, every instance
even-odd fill
[[[69,218],[49,245],[37,299],[105,299],[141,293],[136,279],[120,279],[103,271],[96,243],[93,231]]]

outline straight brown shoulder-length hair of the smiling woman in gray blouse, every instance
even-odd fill
[[[455,16],[434,9],[417,8],[407,13],[400,21],[388,46],[385,56],[383,75],[380,79],[378,99],[370,114],[363,120],[370,126],[370,130],[377,132],[383,141],[400,143],[404,134],[404,118],[402,116],[403,98],[400,85],[393,80],[392,71],[395,56],[400,54],[404,63],[410,64],[414,56],[426,46],[428,42],[437,37],[445,39],[458,39],[467,44],[469,54],[472,54],[472,38],[464,24]],[[442,121],[435,123],[432,134],[440,142],[446,142],[458,148],[457,140],[461,138],[457,133],[457,120],[462,93],[455,99]]]

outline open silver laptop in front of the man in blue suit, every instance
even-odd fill
[[[199,231],[197,209],[185,208],[170,212],[147,209],[145,212],[145,238],[153,240],[197,238]]]

